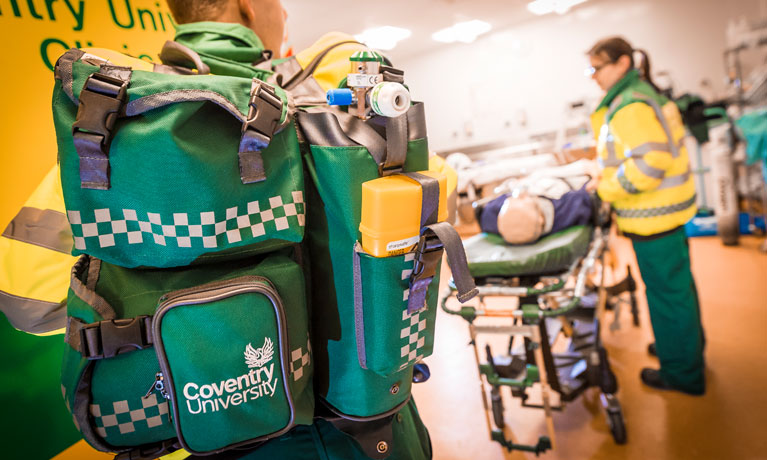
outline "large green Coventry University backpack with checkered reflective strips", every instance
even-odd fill
[[[76,425],[99,450],[150,458],[255,447],[321,417],[386,458],[432,352],[445,249],[473,295],[438,188],[413,174],[428,167],[422,104],[363,121],[316,105],[317,60],[207,75],[169,43],[161,57],[186,67],[79,50],[56,67],[81,254],[62,372]],[[398,173],[423,187],[418,249],[375,258],[358,244],[361,185]]]

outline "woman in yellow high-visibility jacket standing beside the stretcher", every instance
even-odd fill
[[[642,382],[702,395],[703,328],[684,231],[696,212],[695,186],[681,116],[652,83],[647,54],[623,38],[600,40],[587,55],[606,93],[592,115],[597,191],[632,240],[660,360],[660,369],[642,369]]]

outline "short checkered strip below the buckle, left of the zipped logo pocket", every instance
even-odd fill
[[[156,394],[131,403],[115,401],[112,407],[106,404],[91,404],[90,412],[99,436],[106,438],[108,434],[133,433],[136,428],[151,429],[163,423],[170,423],[168,402],[158,402]]]

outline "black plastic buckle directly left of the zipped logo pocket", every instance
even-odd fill
[[[152,317],[147,315],[99,321],[80,329],[80,353],[89,360],[143,350],[153,343]]]

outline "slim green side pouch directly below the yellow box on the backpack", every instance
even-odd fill
[[[357,246],[357,251],[362,249]],[[415,253],[355,256],[355,331],[360,366],[390,376],[431,355],[437,319],[439,272],[429,285],[426,306],[408,312]],[[380,280],[389,280],[382,283]]]

